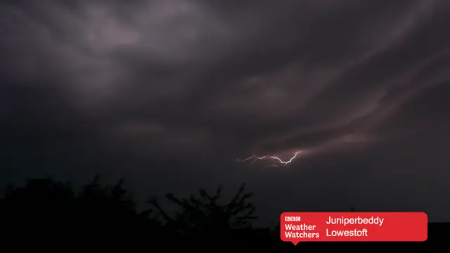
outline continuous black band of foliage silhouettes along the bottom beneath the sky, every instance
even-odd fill
[[[136,211],[136,202],[124,189],[124,181],[102,186],[100,178],[73,190],[70,183],[52,179],[32,179],[25,186],[8,186],[0,199],[0,230],[4,242],[65,242],[66,245],[104,247],[193,247],[211,249],[240,247],[277,248],[303,251],[358,249],[365,252],[392,248],[392,244],[300,243],[279,239],[279,226],[257,228],[252,193],[240,186],[231,200],[222,200],[223,187],[214,193],[200,189],[198,194],[176,197],[169,193],[149,197],[149,208]],[[161,200],[179,207],[167,212]],[[352,209],[354,211],[354,209]],[[430,224],[432,225],[432,224]],[[430,226],[429,242],[441,242],[448,226]],[[398,245],[398,244],[397,244]],[[401,244],[402,249],[428,247],[428,244]]]

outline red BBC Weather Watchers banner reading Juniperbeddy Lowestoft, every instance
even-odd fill
[[[280,221],[285,242],[423,242],[424,212],[285,212]]]

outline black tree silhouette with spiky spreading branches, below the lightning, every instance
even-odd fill
[[[249,202],[252,193],[245,192],[245,184],[225,204],[219,203],[222,191],[222,186],[214,194],[200,189],[198,195],[191,194],[184,198],[168,193],[165,198],[180,207],[174,216],[162,208],[156,197],[150,197],[148,203],[162,216],[167,227],[189,238],[230,236],[233,230],[251,228],[251,221],[257,216],[254,215],[255,205]]]

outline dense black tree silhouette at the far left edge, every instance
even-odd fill
[[[52,179],[28,180],[18,188],[9,186],[0,199],[0,226],[30,235],[45,228],[56,234],[83,231],[85,235],[118,236],[142,226],[150,228],[147,233],[153,233],[159,224],[136,212],[136,203],[123,184],[120,180],[114,186],[101,186],[96,176],[79,193],[72,190],[70,183]],[[25,232],[23,228],[27,228]]]

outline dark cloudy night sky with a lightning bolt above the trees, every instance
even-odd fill
[[[102,174],[144,201],[245,182],[267,221],[350,207],[449,221],[449,13],[446,0],[1,1],[0,185]]]

